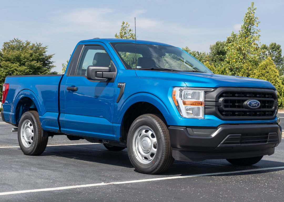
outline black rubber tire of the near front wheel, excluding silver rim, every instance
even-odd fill
[[[139,157],[135,157],[135,151],[133,148],[133,138],[135,136],[135,132],[138,131],[139,128],[144,126],[149,127],[153,130],[153,133],[156,135],[155,138],[157,141],[156,154],[155,156],[153,156],[153,159],[147,164],[141,163],[138,160]],[[168,170],[174,162],[168,128],[164,121],[154,114],[143,114],[134,120],[128,132],[127,148],[131,164],[140,173],[163,173]]]

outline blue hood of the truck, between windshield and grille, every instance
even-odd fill
[[[228,76],[197,72],[162,72],[152,70],[136,70],[140,78],[174,80],[184,82],[187,87],[244,87],[244,88],[276,88],[268,81],[242,76]]]

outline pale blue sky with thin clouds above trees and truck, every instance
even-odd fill
[[[262,44],[284,47],[284,1],[254,1]],[[210,44],[238,32],[251,1],[1,1],[0,47],[13,38],[41,42],[61,72],[76,44],[85,39],[114,38],[122,21],[137,39],[209,52]],[[283,50],[284,52],[284,50]],[[283,55],[282,52],[282,55]]]

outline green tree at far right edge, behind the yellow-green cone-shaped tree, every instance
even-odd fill
[[[284,75],[284,57],[282,57],[281,45],[276,43],[271,43],[269,46],[262,44],[261,47],[262,59],[267,59],[270,57],[276,69],[279,71],[279,75]]]

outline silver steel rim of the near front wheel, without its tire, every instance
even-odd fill
[[[132,145],[135,157],[140,163],[148,164],[154,159],[157,152],[157,139],[150,127],[139,127],[135,131]]]

